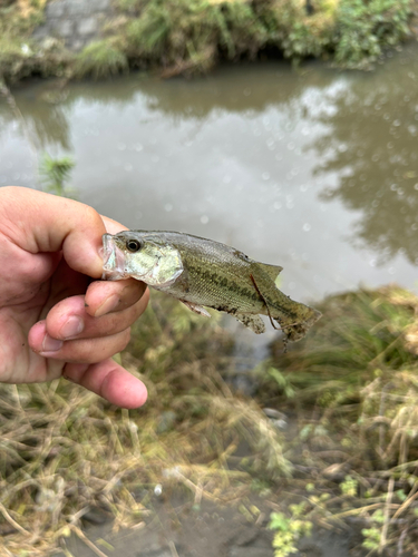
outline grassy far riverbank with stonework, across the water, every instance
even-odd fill
[[[59,8],[59,1],[50,6]],[[0,3],[0,76],[7,82],[32,75],[104,78],[135,68],[157,70],[164,77],[195,75],[222,60],[260,57],[284,57],[294,63],[314,57],[338,67],[370,68],[386,49],[414,36],[417,3],[117,0],[101,27],[91,17],[80,21],[79,28],[87,32],[81,38],[88,43],[69,42],[68,32],[76,28],[69,30],[65,20],[48,27],[47,6],[23,0]],[[61,12],[61,18],[68,17],[64,8],[54,17]],[[45,32],[37,33],[42,26]],[[66,48],[76,45],[86,46],[80,51]]]

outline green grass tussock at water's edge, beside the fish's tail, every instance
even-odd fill
[[[294,350],[282,354],[280,343],[272,346],[273,365],[298,388],[299,397],[312,399],[318,390],[328,398],[325,404],[333,398],[340,404],[341,397],[358,397],[376,374],[415,362],[410,346],[418,305],[408,291],[388,286],[348,292],[318,307],[325,319]]]

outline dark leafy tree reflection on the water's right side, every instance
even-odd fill
[[[411,65],[412,66],[412,65]],[[340,199],[359,218],[351,241],[376,253],[376,263],[398,253],[418,264],[418,65],[391,79],[357,79],[329,98],[328,131],[313,144],[315,175],[333,184],[323,201]],[[401,68],[401,67],[400,67]],[[395,69],[395,68],[393,68]]]

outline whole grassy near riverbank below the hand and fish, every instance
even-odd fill
[[[235,526],[240,516],[253,525],[263,547],[273,538],[276,556],[302,538],[307,547],[312,528],[342,529],[358,555],[408,555],[418,536],[418,300],[388,286],[320,309],[305,341],[286,354],[274,344],[247,372],[255,399],[234,390],[233,340],[216,320],[163,295],[121,354],[148,387],[144,409],[120,411],[65,381],[0,385],[2,553],[49,555],[69,536],[82,545],[82,526],[110,518],[114,531],[140,530],[169,506],[192,522],[225,521],[232,506]],[[110,555],[98,537],[95,553]],[[149,555],[175,555],[164,547]]]

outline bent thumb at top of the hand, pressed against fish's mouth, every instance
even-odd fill
[[[30,253],[62,250],[68,265],[101,276],[99,255],[105,225],[88,205],[25,187],[0,189],[0,231]]]

